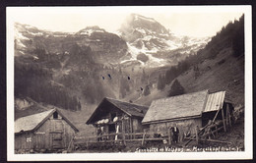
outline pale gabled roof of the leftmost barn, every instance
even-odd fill
[[[31,132],[38,129],[54,112],[58,114],[76,131],[79,130],[57,109],[51,109],[45,112],[33,114],[27,117],[19,118],[15,121],[15,134],[21,132]]]

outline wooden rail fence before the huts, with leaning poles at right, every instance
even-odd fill
[[[218,114],[221,112],[223,119],[216,121]],[[220,108],[216,113],[213,120],[210,120],[209,123],[199,129],[198,127],[195,129],[195,135],[184,137],[184,139],[188,139],[188,141],[184,144],[186,146],[192,140],[199,141],[210,141],[210,142],[220,142],[220,143],[229,143],[227,141],[221,141],[218,139],[212,139],[218,135],[221,130],[226,132],[227,127],[231,127],[231,114],[229,112],[229,108],[226,109],[226,115],[224,116],[224,109]],[[144,145],[145,141],[163,141],[164,143],[171,144],[171,133],[170,130],[167,132],[167,136],[163,136],[162,134],[156,133],[118,133],[118,134],[106,134],[101,136],[76,136],[74,137],[75,145],[84,145],[89,146],[91,143],[106,143],[106,142],[120,142],[122,144],[126,144],[128,141],[141,141],[141,144]]]

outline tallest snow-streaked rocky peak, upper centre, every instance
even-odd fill
[[[171,33],[156,20],[132,14],[118,30],[126,40],[131,57],[121,63],[140,62],[140,66],[175,65],[188,54],[204,48],[210,37],[188,37]],[[180,55],[181,54],[181,55]]]

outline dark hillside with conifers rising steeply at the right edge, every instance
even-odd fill
[[[228,23],[196,55],[187,57],[177,66],[159,75],[158,88],[148,96],[136,93],[127,100],[150,105],[155,99],[169,95],[173,81],[179,81],[185,93],[209,89],[225,90],[225,99],[234,107],[244,106],[244,16]],[[182,66],[183,65],[183,66]],[[187,66],[184,66],[187,65]],[[176,88],[179,86],[176,85]]]

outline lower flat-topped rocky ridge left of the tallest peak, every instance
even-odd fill
[[[119,62],[127,51],[127,45],[118,35],[99,27],[86,27],[76,33],[52,32],[28,25],[15,24],[16,55],[32,55],[38,58],[34,49],[43,49],[45,54],[70,54],[72,46],[89,47],[96,63]]]

